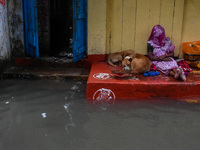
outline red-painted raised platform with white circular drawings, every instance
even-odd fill
[[[129,74],[123,78],[113,76],[112,67],[105,62],[95,63],[91,67],[87,81],[88,100],[132,100],[150,98],[200,100],[200,75],[189,74],[187,81],[175,80],[162,73],[154,77]]]

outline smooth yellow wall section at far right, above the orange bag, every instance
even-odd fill
[[[185,0],[182,42],[200,40],[200,1]]]

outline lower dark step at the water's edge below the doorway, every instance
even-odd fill
[[[84,78],[89,75],[89,68],[52,68],[52,67],[11,67],[3,72],[3,78],[55,79]]]

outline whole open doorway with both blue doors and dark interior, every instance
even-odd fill
[[[27,56],[86,57],[87,0],[23,2]]]

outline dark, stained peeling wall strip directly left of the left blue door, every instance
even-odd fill
[[[24,25],[22,1],[8,1],[8,25],[12,57],[24,57]]]

